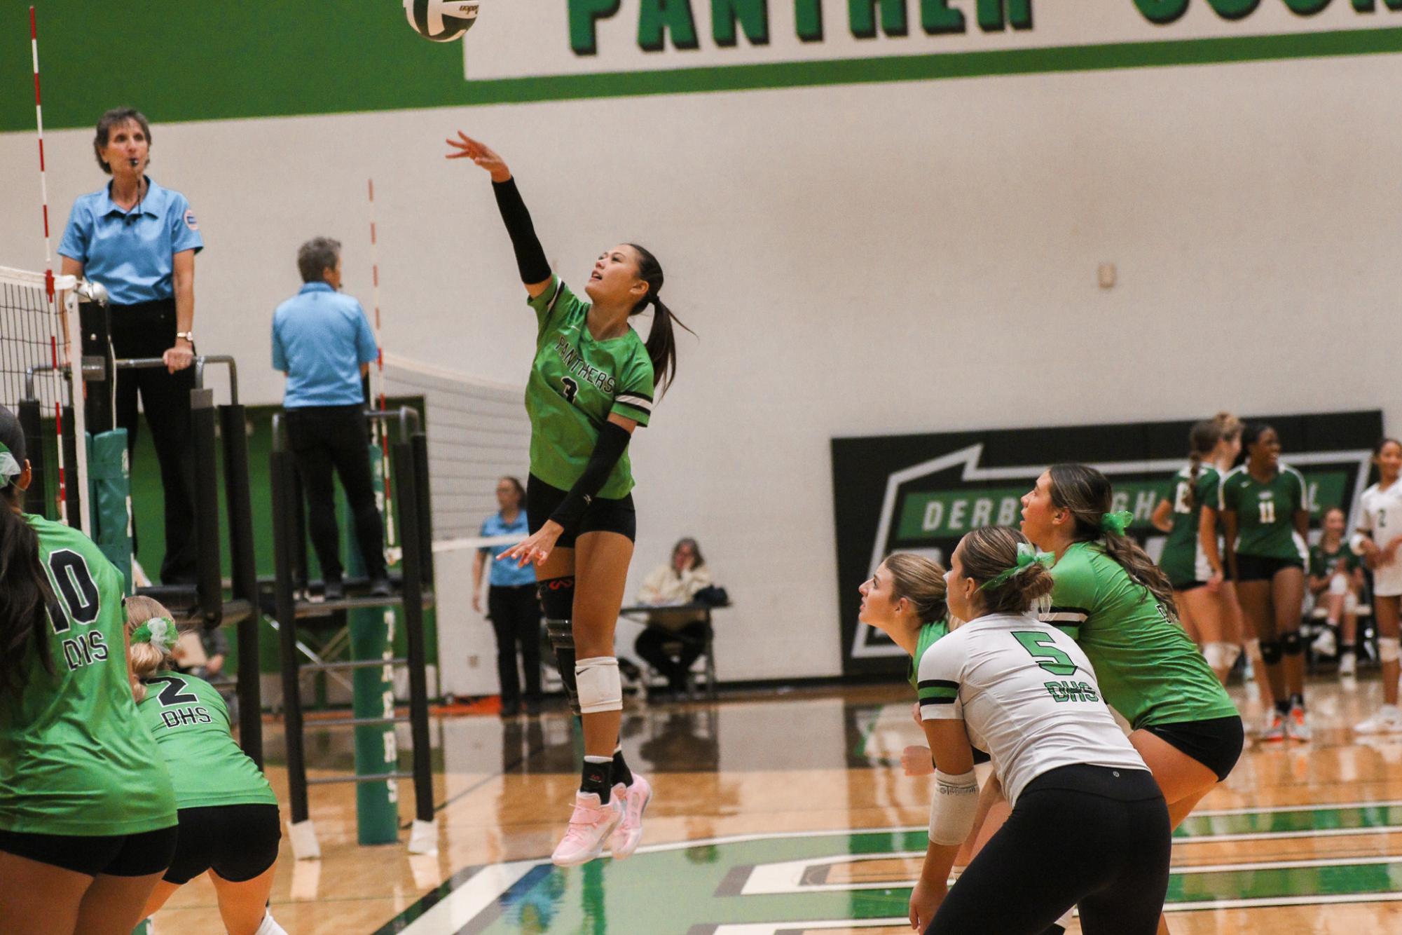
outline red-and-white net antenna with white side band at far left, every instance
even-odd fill
[[[39,139],[39,200],[43,206],[43,292],[45,301],[48,303],[49,314],[49,357],[53,370],[60,370],[67,367],[69,371],[69,402],[73,412],[73,426],[72,430],[77,439],[74,444],[74,460],[77,464],[72,465],[77,470],[79,481],[87,479],[87,421],[83,412],[83,350],[81,342],[79,343],[77,353],[69,350],[69,335],[81,335],[81,328],[79,325],[79,303],[77,296],[74,296],[74,286],[77,279],[74,276],[55,278],[53,275],[53,250],[49,243],[49,182],[48,172],[43,164],[43,101],[39,94],[39,25],[35,17],[34,7],[29,7],[29,49],[34,55],[34,123],[38,130]],[[62,304],[62,311],[59,306]],[[64,356],[67,360],[60,360],[59,357],[59,324],[62,315],[62,325],[64,334]],[[53,416],[60,439],[59,443],[59,516],[69,526],[77,519],[81,523],[81,528],[91,530],[91,512],[88,500],[91,498],[86,495],[79,496],[79,503],[81,505],[81,517],[70,517],[67,512],[67,496],[64,493],[67,488],[67,470],[69,465],[64,464],[63,456],[63,404],[59,398],[53,402]],[[80,488],[81,489],[81,488]]]

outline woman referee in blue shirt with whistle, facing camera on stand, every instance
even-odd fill
[[[88,426],[94,433],[114,425],[126,429],[130,458],[140,393],[165,492],[161,582],[191,585],[196,550],[189,391],[195,387],[195,254],[205,240],[185,196],[146,175],[151,126],[140,111],[104,114],[93,150],[112,181],[73,202],[59,243],[60,272],[100,282],[111,294],[111,332],[101,315],[86,314],[84,350],[105,356],[111,339],[112,356],[161,357],[165,367],[122,370],[112,383],[94,384]],[[64,352],[67,341],[66,335]]]

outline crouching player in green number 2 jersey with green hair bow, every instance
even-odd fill
[[[126,635],[137,718],[156,739],[179,809],[175,855],[146,915],[207,872],[230,935],[286,935],[268,910],[282,838],[278,796],[234,743],[215,687],[174,671],[170,611],[150,597],[128,597]]]

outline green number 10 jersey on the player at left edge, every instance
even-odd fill
[[[83,533],[38,516],[39,559],[59,599],[45,671],[0,699],[0,830],[105,837],[175,824],[175,795],[136,715],[126,670],[122,575]]]

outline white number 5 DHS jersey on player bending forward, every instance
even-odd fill
[[[1033,614],[979,617],[927,649],[920,716],[963,721],[1012,805],[1059,767],[1148,768],[1101,699],[1085,653]]]

